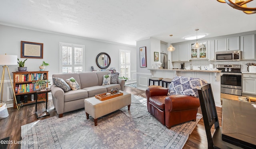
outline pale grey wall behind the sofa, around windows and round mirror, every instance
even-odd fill
[[[11,27],[6,25],[0,25],[0,54],[7,55],[18,55],[20,59],[20,41],[29,41],[36,43],[44,43],[44,54],[43,59],[28,59],[25,62],[25,67],[28,67],[28,71],[39,71],[39,65],[41,65],[42,61],[49,63],[50,66],[47,66],[45,71],[49,71],[49,78],[52,77],[52,74],[60,73],[59,72],[59,42],[64,43],[75,43],[80,45],[85,45],[85,70],[91,71],[91,66],[94,67],[95,70],[100,70],[100,68],[96,65],[96,56],[98,53],[106,52],[110,55],[111,64],[110,67],[115,67],[117,71],[119,68],[119,49],[130,50],[131,51],[131,71],[132,73],[136,73],[136,47],[128,46],[128,45],[120,45],[115,43],[107,43],[96,41],[93,39],[85,39],[80,37],[74,37],[71,35],[61,35],[56,33],[48,33],[42,31],[35,31],[30,29],[22,29],[18,27]],[[22,58],[22,60],[24,60]],[[18,71],[18,65],[10,66],[10,73],[14,71]],[[0,72],[2,72],[2,67],[0,68]],[[1,73],[2,74],[2,73]],[[11,74],[12,76],[12,74]],[[136,79],[136,77],[135,77]],[[11,86],[9,76],[6,75],[4,77],[4,90],[8,90],[7,88]],[[49,79],[50,80],[50,79]],[[129,80],[128,80],[129,81]],[[136,81],[131,80],[131,81]],[[8,83],[9,82],[9,83]],[[12,94],[10,94],[12,95]],[[4,101],[7,101],[12,97],[6,97],[4,94]],[[8,102],[7,104],[11,104],[12,102]]]

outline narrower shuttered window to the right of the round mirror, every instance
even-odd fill
[[[119,50],[119,72],[120,76],[130,78],[131,63],[130,63],[131,51]]]

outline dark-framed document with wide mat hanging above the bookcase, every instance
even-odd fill
[[[44,50],[43,43],[21,41],[20,57],[21,58],[42,59],[43,58],[43,50]]]

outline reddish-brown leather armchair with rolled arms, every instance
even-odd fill
[[[168,88],[146,89],[148,112],[169,129],[173,125],[196,121],[200,101],[188,95],[167,96]]]

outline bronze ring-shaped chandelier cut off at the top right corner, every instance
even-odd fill
[[[242,10],[246,14],[255,14],[256,8],[248,8],[246,6],[247,3],[253,1],[253,0],[217,0],[221,3],[227,3],[232,8],[235,8],[237,10]]]

